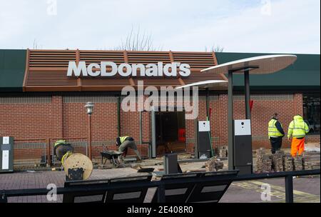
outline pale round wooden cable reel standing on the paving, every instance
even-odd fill
[[[72,153],[66,156],[66,159],[63,161],[63,168],[66,176],[68,176],[69,168],[83,168],[83,180],[86,180],[93,172],[93,163],[91,159],[82,153]]]

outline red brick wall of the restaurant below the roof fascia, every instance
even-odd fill
[[[88,135],[88,116],[84,106],[85,99],[77,96],[73,101],[64,101],[66,96],[34,97],[29,100],[10,99],[6,103],[0,101],[0,136],[14,136],[16,140],[39,140],[41,138],[83,138]],[[24,98],[24,97],[22,97]],[[97,98],[97,97],[96,97]],[[93,141],[115,141],[117,136],[117,103],[116,101],[95,101],[92,116]],[[113,97],[111,97],[112,99]],[[99,99],[99,97],[98,97]],[[280,122],[287,131],[292,116],[302,114],[302,94],[281,94],[251,96],[254,100],[252,110],[253,149],[261,146],[270,147],[267,140],[267,123],[272,113],[279,113]],[[87,100],[87,99],[86,99]],[[2,100],[2,102],[4,102]],[[199,120],[205,120],[205,101],[199,101]],[[228,96],[220,94],[210,101],[212,108],[210,127],[212,136],[217,138],[213,146],[228,143]],[[234,118],[245,118],[245,104],[242,97],[234,102]],[[188,153],[194,151],[194,120],[186,120],[186,137]],[[121,135],[130,135],[139,141],[139,113],[121,111]],[[150,113],[143,113],[143,141],[149,141],[151,135]],[[309,136],[308,141],[320,141],[320,135]],[[290,143],[283,140],[284,146]],[[103,146],[94,146],[93,156],[99,156]],[[110,146],[109,148],[116,148]],[[138,144],[143,156],[148,156],[148,145]],[[31,154],[30,151],[25,153]],[[133,154],[131,151],[129,154]],[[37,154],[38,155],[38,154]]]

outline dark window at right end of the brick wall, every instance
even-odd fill
[[[309,134],[320,133],[320,94],[303,94],[303,116],[309,126]]]

